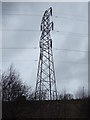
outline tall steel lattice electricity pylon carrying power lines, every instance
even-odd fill
[[[52,8],[45,11],[41,21],[40,57],[37,72],[35,90],[36,100],[56,100],[56,79],[52,54],[52,39],[50,31],[53,30],[53,22],[50,22]]]

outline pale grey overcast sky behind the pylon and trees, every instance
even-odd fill
[[[69,93],[75,93],[83,86],[87,89],[88,3],[3,3],[3,70],[13,63],[22,80],[35,88],[40,22],[49,7],[53,8],[51,37],[57,89],[66,89]],[[37,49],[26,49],[35,47]]]

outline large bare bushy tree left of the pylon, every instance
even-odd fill
[[[7,72],[2,74],[2,100],[14,101],[20,96],[29,97],[29,87],[24,85],[20,79],[20,75],[10,66]]]

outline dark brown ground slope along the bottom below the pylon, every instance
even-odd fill
[[[88,100],[3,102],[3,118],[87,118]]]

